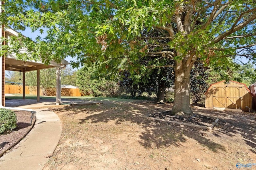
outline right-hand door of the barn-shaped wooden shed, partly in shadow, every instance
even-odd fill
[[[227,87],[227,108],[229,109],[241,109],[242,108],[242,97],[240,97],[240,87]]]

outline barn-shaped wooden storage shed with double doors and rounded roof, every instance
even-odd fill
[[[248,87],[239,82],[225,81],[212,84],[205,93],[205,107],[227,109],[252,109],[252,94]],[[250,109],[249,109],[249,108]]]

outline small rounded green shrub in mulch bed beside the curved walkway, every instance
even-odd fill
[[[0,109],[0,134],[8,133],[17,126],[17,117],[14,111]]]

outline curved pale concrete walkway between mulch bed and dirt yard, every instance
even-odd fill
[[[47,108],[34,109],[36,124],[9,153],[0,158],[0,170],[42,170],[62,133],[58,115]]]

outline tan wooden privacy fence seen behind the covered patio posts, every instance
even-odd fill
[[[36,95],[36,86],[25,86],[26,94]],[[23,88],[19,85],[4,85],[4,93],[9,94],[23,94]],[[48,88],[46,96],[56,96],[56,88]],[[40,89],[40,96],[43,96],[42,89]],[[81,96],[79,88],[61,88],[61,96]]]

